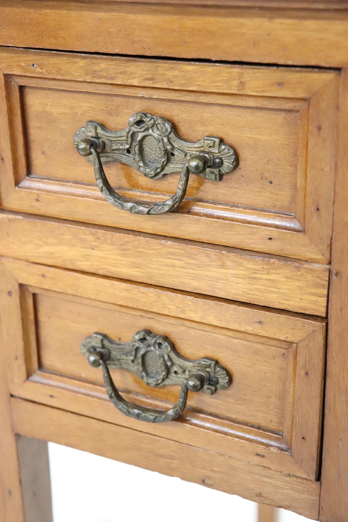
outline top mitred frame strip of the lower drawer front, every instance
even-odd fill
[[[17,281],[26,286],[87,299],[98,299],[99,294],[106,303],[124,305],[127,302],[136,302],[139,308],[149,312],[161,311],[166,315],[222,328],[241,328],[243,325],[246,333],[265,337],[276,335],[283,341],[298,343],[313,334],[323,322],[323,319],[282,310],[265,309],[168,288],[163,290],[148,284],[72,270],[62,271],[60,268],[26,263],[18,259],[3,257],[1,263]]]

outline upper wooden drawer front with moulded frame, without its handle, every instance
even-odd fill
[[[6,48],[0,67],[3,208],[329,261],[337,72]],[[221,181],[191,174],[169,214],[115,209],[73,137],[89,120],[119,131],[136,112],[165,116],[185,140],[222,138],[239,166]],[[104,168],[140,201],[177,189],[176,173]]]

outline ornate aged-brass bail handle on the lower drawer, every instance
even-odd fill
[[[185,359],[167,337],[149,330],[138,331],[130,342],[117,342],[96,332],[82,341],[81,352],[91,366],[101,366],[107,395],[116,408],[127,417],[146,422],[176,419],[186,406],[188,390],[212,395],[217,389],[229,387],[232,381],[229,372],[215,359]],[[149,386],[181,384],[177,404],[160,411],[128,402],[119,394],[110,368],[128,370]]]

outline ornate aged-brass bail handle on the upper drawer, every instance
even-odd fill
[[[123,131],[109,131],[100,123],[89,121],[75,133],[74,144],[82,156],[94,163],[97,185],[107,201],[133,214],[171,212],[185,197],[190,173],[220,181],[223,174],[238,165],[235,150],[220,138],[207,136],[195,143],[185,141],[177,136],[169,120],[146,112],[133,114]],[[131,165],[152,179],[181,171],[177,191],[157,203],[123,197],[107,180],[103,169],[107,161]]]

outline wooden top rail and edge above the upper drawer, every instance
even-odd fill
[[[195,38],[188,39],[190,34]],[[127,3],[4,0],[0,43],[41,49],[344,67],[348,63],[346,37],[344,10],[250,12],[248,8],[213,6],[136,4],[135,8]]]

